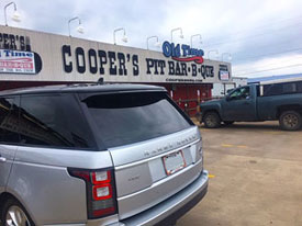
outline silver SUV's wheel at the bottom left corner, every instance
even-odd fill
[[[1,222],[3,226],[34,226],[24,207],[13,199],[5,202]]]

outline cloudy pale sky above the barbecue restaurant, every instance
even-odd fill
[[[3,7],[9,0],[1,0]],[[68,35],[67,21],[79,16],[85,34],[72,36],[113,43],[113,30],[125,27],[128,43],[146,48],[146,37],[170,39],[170,31],[182,27],[177,43],[210,52],[210,58],[232,55],[233,76],[261,77],[302,72],[302,0],[15,0],[21,23],[9,25]],[[12,14],[9,8],[8,14]],[[2,19],[3,20],[3,19]],[[4,20],[2,21],[2,24]],[[76,29],[76,22],[71,24]],[[160,50],[150,41],[150,48]],[[228,54],[223,55],[228,60]]]

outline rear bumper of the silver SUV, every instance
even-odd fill
[[[143,213],[110,226],[169,225],[175,223],[205,195],[209,182],[208,176],[208,171],[203,170],[193,183],[174,196]]]

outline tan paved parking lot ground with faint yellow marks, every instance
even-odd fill
[[[177,226],[302,225],[302,131],[277,122],[200,131],[209,192]]]

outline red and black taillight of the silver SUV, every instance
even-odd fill
[[[88,218],[100,218],[118,213],[114,173],[112,169],[68,169],[70,176],[86,181]]]

